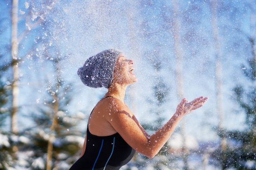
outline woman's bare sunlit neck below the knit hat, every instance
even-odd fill
[[[105,97],[112,96],[124,102],[126,88],[127,85],[124,86],[117,83],[112,83],[108,88],[108,92],[105,94]]]

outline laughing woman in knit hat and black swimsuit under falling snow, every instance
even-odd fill
[[[82,154],[70,170],[119,170],[135,151],[153,158],[185,115],[203,106],[207,97],[180,102],[172,118],[154,135],[148,135],[124,102],[128,85],[137,82],[133,61],[109,49],[90,57],[78,75],[89,87],[106,87],[108,92],[91,112]]]

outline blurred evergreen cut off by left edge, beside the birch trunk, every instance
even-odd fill
[[[1,18],[0,35],[3,35],[3,30],[6,28],[5,20],[7,18]],[[8,45],[1,45],[3,50],[10,51]],[[13,67],[13,61],[6,61],[5,52],[0,52],[0,170],[6,170],[15,165],[17,150],[16,144],[13,142],[12,137],[14,135],[8,132],[8,128],[5,127],[6,118],[10,116],[13,110],[11,102],[13,81],[8,79],[8,72],[10,67]]]

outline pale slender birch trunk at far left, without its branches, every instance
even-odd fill
[[[18,0],[13,0],[13,9],[12,9],[12,37],[11,37],[11,55],[13,61],[13,109],[11,110],[11,132],[18,133],[17,125],[17,112],[18,112]]]

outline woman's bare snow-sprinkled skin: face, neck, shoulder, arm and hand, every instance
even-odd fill
[[[97,103],[89,118],[88,127],[90,132],[97,136],[108,136],[118,132],[133,149],[148,158],[153,158],[170,138],[182,117],[202,107],[208,98],[198,97],[192,102],[184,98],[171,119],[150,136],[124,103],[127,86],[138,81],[132,72],[133,69],[133,61],[120,54],[115,64],[113,80],[104,96],[112,97]],[[86,136],[82,155],[86,147],[85,141]]]

